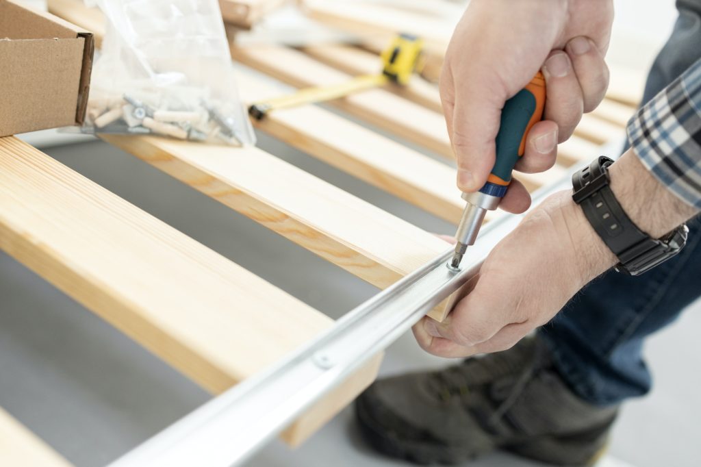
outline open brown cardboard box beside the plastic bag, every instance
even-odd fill
[[[83,123],[93,34],[0,0],[0,136]]]

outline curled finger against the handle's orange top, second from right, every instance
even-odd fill
[[[558,142],[567,140],[582,118],[584,97],[572,61],[562,50],[553,50],[543,65],[545,114],[557,123]]]

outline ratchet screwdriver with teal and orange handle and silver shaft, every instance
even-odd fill
[[[545,78],[538,72],[524,89],[504,104],[499,133],[496,135],[496,161],[484,187],[475,193],[463,193],[467,204],[455,235],[458,243],[449,262],[451,269],[460,268],[468,246],[475,244],[486,211],[495,210],[506,194],[514,165],[524,155],[526,135],[536,122],[543,119],[543,109]]]

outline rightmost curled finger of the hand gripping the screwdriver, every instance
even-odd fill
[[[604,55],[594,42],[579,36],[567,43],[565,50],[579,81],[585,112],[594,110],[608,88],[608,67]]]

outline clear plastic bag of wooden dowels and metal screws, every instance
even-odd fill
[[[255,144],[217,0],[97,0],[108,19],[83,133]]]

